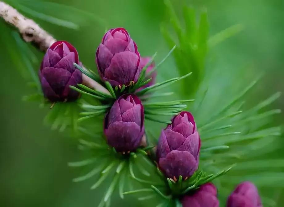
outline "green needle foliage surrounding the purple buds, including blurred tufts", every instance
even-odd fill
[[[65,6],[57,3],[39,2],[39,4],[33,5],[32,1],[26,0],[21,2],[18,7],[25,13],[39,19],[44,19],[50,23],[71,29],[79,28],[81,20],[78,20],[76,24],[42,14],[36,10],[36,8],[50,5],[56,8],[57,11],[62,11],[63,8],[63,10],[66,11]],[[108,82],[105,82],[105,87],[109,90],[111,95],[90,89],[81,84],[78,84],[77,87],[71,87],[73,90],[82,93],[81,99],[72,103],[56,103],[48,112],[45,122],[48,123],[52,129],[64,131],[69,127],[72,129],[72,134],[76,135],[76,137],[81,137],[82,135],[88,137],[88,140],[79,139],[78,145],[78,149],[81,150],[82,153],[89,153],[86,156],[87,158],[79,162],[69,163],[69,166],[80,168],[91,167],[91,169],[86,174],[74,178],[73,181],[88,181],[95,177],[97,180],[90,188],[96,189],[107,179],[112,180],[108,188],[106,188],[99,206],[110,205],[111,195],[115,192],[116,188],[121,198],[131,193],[150,193],[150,195],[140,196],[138,199],[144,201],[158,197],[160,199],[158,206],[168,204],[181,206],[180,202],[175,197],[176,195],[194,191],[201,184],[213,179],[213,182],[217,185],[220,195],[223,196],[223,198],[232,190],[228,189],[228,186],[237,184],[244,179],[253,180],[257,186],[271,187],[271,183],[273,183],[276,187],[281,188],[284,183],[283,174],[277,170],[283,167],[283,164],[281,164],[283,160],[262,158],[264,154],[276,149],[277,146],[272,143],[281,135],[279,126],[269,125],[271,116],[281,113],[281,110],[267,109],[269,104],[279,98],[279,92],[249,109],[245,108],[244,102],[246,95],[257,83],[256,80],[251,82],[248,87],[236,96],[221,93],[218,97],[215,97],[215,99],[220,100],[221,109],[219,111],[215,111],[215,109],[211,110],[211,113],[206,116],[200,115],[202,111],[206,111],[206,109],[210,107],[209,94],[213,93],[208,85],[209,81],[203,79],[207,73],[205,67],[207,50],[209,47],[213,47],[226,38],[240,32],[243,29],[242,25],[234,25],[209,38],[206,12],[201,13],[199,23],[197,23],[195,11],[191,8],[184,7],[183,18],[185,29],[182,29],[182,24],[175,15],[169,1],[166,1],[166,7],[171,26],[177,36],[177,41],[172,38],[169,30],[166,28],[166,24],[163,24],[161,31],[171,50],[152,71],[160,67],[173,53],[181,77],[156,83],[152,87],[136,92],[136,94],[143,100],[145,118],[166,124],[171,123],[169,117],[187,108],[186,102],[192,102],[190,110],[196,117],[198,131],[202,138],[199,170],[190,179],[183,180],[180,178],[174,181],[165,178],[157,169],[155,163],[152,162],[152,157],[147,155],[149,151],[154,154],[152,146],[144,149],[140,148],[130,154],[119,154],[106,144],[102,136],[102,115],[106,114],[112,103],[120,95],[135,92],[138,88],[150,81],[145,74],[147,68],[147,66],[145,66],[138,82],[134,85],[123,85],[121,88],[113,88]],[[68,9],[70,9],[69,11],[74,11],[74,8]],[[77,12],[80,13],[81,11]],[[82,13],[82,15],[88,17],[93,16],[87,13]],[[35,63],[38,62],[38,60],[23,40],[20,39],[18,34],[13,33],[12,35],[15,37],[19,46],[23,64],[30,72],[30,77],[27,81],[32,81],[32,84],[29,85],[35,88],[36,92],[35,94],[25,96],[24,100],[38,101],[41,106],[46,106],[47,104],[50,106],[51,103],[47,103],[43,99],[39,80],[35,72],[36,70],[34,69]],[[152,56],[152,60],[155,58],[156,54],[157,53]],[[152,61],[150,61],[148,65],[151,64],[151,62]],[[100,82],[100,79],[93,71],[80,67],[79,65],[75,66],[90,78]],[[183,81],[183,90],[177,91],[176,93],[180,93],[178,94],[180,99],[185,100],[151,101],[157,97],[168,97],[172,95],[172,92],[158,94],[155,93],[155,91],[163,87],[169,88],[171,83],[178,80]],[[190,82],[191,85],[190,90],[187,90],[188,82]],[[206,89],[203,90],[204,88]],[[189,96],[190,98],[195,98],[196,101],[188,99]],[[221,101],[223,99],[226,99],[229,103]],[[81,112],[82,110],[83,112]],[[214,111],[216,113],[213,113]],[[78,115],[81,115],[81,117],[78,117]],[[149,131],[154,130],[160,131],[160,129],[156,127],[149,129]],[[148,141],[156,144],[157,137],[151,137],[151,133],[148,132],[146,134]],[[260,155],[262,155],[262,157],[260,157]],[[227,169],[230,169],[229,166],[232,166],[234,163],[236,163],[236,166],[228,175],[219,178],[220,175],[227,173]],[[145,164],[147,167],[144,166]],[[260,173],[260,169],[265,169],[265,173]],[[138,176],[136,174],[138,174]],[[142,179],[140,177],[142,177]],[[153,180],[155,180],[155,182],[153,182]],[[132,182],[141,184],[142,189],[133,190],[131,186]],[[126,186],[127,184],[128,186]],[[273,205],[271,201],[267,203]]]

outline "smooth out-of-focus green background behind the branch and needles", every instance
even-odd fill
[[[16,1],[12,2],[17,5]],[[168,20],[162,0],[46,1],[75,8],[66,11],[53,9],[52,4],[50,7],[44,7],[40,2],[25,1],[25,5],[38,13],[67,20],[74,23],[74,27],[79,26],[77,29],[65,28],[44,21],[43,19],[47,18],[45,16],[32,17],[56,39],[71,42],[77,48],[81,61],[91,69],[95,69],[94,53],[106,28],[125,27],[136,41],[142,56],[151,56],[158,51],[158,59],[161,60],[169,51],[160,32],[161,22]],[[240,23],[244,26],[242,32],[219,44],[207,55],[206,69],[210,71],[211,68],[215,68],[212,76],[218,77],[218,81],[211,83],[210,87],[214,87],[216,91],[223,90],[224,87],[226,91],[234,91],[235,88],[244,87],[244,82],[249,82],[258,74],[264,73],[261,82],[247,99],[249,105],[276,91],[283,91],[284,2],[282,0],[173,0],[171,2],[180,17],[181,2],[193,6],[197,11],[207,9],[210,35],[233,24]],[[19,6],[19,9],[27,14],[23,6]],[[82,11],[98,18],[93,18]],[[31,17],[29,14],[27,16]],[[98,21],[98,19],[103,20]],[[26,87],[21,72],[16,69],[24,71],[26,66],[21,61],[15,39],[10,35],[12,30],[12,27],[0,21],[1,206],[96,206],[101,199],[103,186],[90,191],[88,182],[71,182],[71,179],[78,175],[78,171],[70,169],[67,162],[78,160],[80,157],[77,140],[65,136],[64,133],[51,131],[48,126],[43,125],[43,117],[48,109],[40,109],[36,103],[22,101],[22,96],[29,94],[30,89]],[[43,53],[33,47],[31,49],[41,60]],[[173,58],[167,60],[161,71],[158,80],[177,76]],[[222,100],[211,101],[213,104]],[[283,106],[282,96],[274,103],[274,108],[283,110]],[[282,125],[283,115],[276,116],[274,121],[277,125]],[[283,143],[280,141],[277,144],[283,145]],[[283,155],[280,149],[270,156],[282,158]],[[266,191],[269,192],[269,189]],[[283,193],[280,191],[278,195],[272,197],[278,203],[277,206],[282,206],[279,198]],[[135,198],[129,196],[126,201],[117,199],[113,201],[113,206],[118,206],[119,202],[134,206],[132,199]],[[140,204],[135,202],[135,206]]]

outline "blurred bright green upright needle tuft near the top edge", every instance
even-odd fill
[[[207,39],[208,39],[208,20],[207,12],[200,15],[199,24],[196,23],[195,11],[192,8],[184,6],[183,15],[185,19],[185,30],[173,10],[170,1],[166,0],[167,14],[170,18],[171,26],[176,33],[178,45],[173,51],[173,55],[177,64],[177,69],[180,75],[193,72],[194,77],[188,77],[183,81],[183,88],[187,87],[190,82],[190,91],[184,91],[187,95],[193,95],[203,80],[204,63],[207,54]],[[176,43],[169,33],[166,24],[161,26],[161,32],[170,48]]]

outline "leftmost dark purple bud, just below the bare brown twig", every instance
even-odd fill
[[[39,77],[44,96],[50,101],[75,100],[79,93],[69,86],[82,82],[81,71],[73,63],[81,65],[77,50],[68,42],[53,43],[44,55]]]

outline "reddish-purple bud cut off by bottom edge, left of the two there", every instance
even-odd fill
[[[191,195],[182,198],[182,207],[219,207],[217,189],[212,183],[207,183]]]

